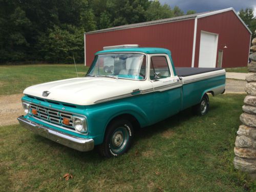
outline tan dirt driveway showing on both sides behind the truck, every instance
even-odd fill
[[[225,93],[242,94],[245,88],[244,80],[226,80]],[[0,96],[0,126],[18,123],[17,117],[24,114],[20,99],[23,94]]]

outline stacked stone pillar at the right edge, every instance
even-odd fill
[[[256,33],[256,31],[255,31]],[[256,179],[256,38],[252,40],[248,65],[249,73],[246,75],[243,113],[240,120],[236,143],[234,147],[234,167],[247,172],[252,179]]]

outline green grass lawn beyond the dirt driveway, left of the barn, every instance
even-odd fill
[[[88,67],[77,65],[79,77]],[[22,93],[33,84],[77,77],[74,65],[18,65],[0,66],[0,95]]]

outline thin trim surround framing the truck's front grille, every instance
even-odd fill
[[[47,124],[50,124],[50,125],[59,127],[59,128],[61,128],[61,129],[68,130],[68,131],[71,131],[71,132],[74,132],[74,133],[78,133],[78,134],[81,134],[81,135],[88,135],[88,134],[89,134],[88,121],[87,121],[87,117],[86,117],[85,115],[81,115],[81,114],[73,113],[73,112],[69,112],[69,111],[63,111],[63,110],[59,110],[59,109],[54,109],[54,108],[51,108],[51,107],[49,107],[49,106],[40,105],[40,104],[33,103],[33,102],[30,102],[30,101],[22,100],[22,102],[27,102],[27,103],[29,103],[29,104],[36,104],[36,105],[42,106],[42,107],[44,107],[44,108],[49,108],[49,109],[53,109],[53,110],[55,110],[55,111],[59,111],[60,113],[61,113],[61,112],[64,112],[64,113],[71,113],[71,114],[74,114],[74,115],[77,115],[77,116],[82,116],[82,117],[86,118],[86,122],[87,122],[87,133],[80,133],[80,132],[78,132],[78,131],[76,131],[76,130],[71,130],[71,129],[65,128],[65,127],[63,127],[63,126],[59,126],[59,125],[57,125],[57,124],[50,123],[50,122],[48,122],[48,121],[45,121],[45,120],[39,119],[39,118],[37,118],[37,117],[31,116],[30,113],[28,113],[28,115],[29,115],[30,117],[32,117],[32,118],[35,118],[35,119],[37,119],[37,120],[39,120],[39,121],[42,121],[42,122],[44,122],[44,123],[47,123]]]

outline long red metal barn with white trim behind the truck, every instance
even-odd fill
[[[166,48],[176,67],[247,66],[251,32],[233,8],[84,33],[84,61],[104,46]]]

